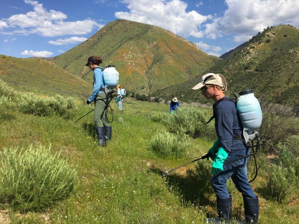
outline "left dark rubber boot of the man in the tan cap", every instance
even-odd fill
[[[217,211],[218,218],[216,219],[204,219],[205,223],[210,224],[229,224],[232,217],[232,196],[229,198],[218,198],[217,197]]]

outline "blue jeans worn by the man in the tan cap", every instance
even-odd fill
[[[246,148],[245,144],[240,140],[234,140],[231,152],[224,163],[240,158],[250,153],[250,148]],[[247,158],[237,160],[235,162],[223,165],[223,171],[212,177],[212,187],[217,197],[229,198],[226,182],[231,177],[237,190],[247,198],[256,198],[247,177]]]

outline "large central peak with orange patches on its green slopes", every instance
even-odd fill
[[[92,55],[116,66],[120,85],[145,94],[183,83],[217,61],[168,30],[122,19],[52,61],[92,84],[92,72],[84,66]]]

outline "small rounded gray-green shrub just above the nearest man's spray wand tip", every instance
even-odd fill
[[[162,130],[150,140],[150,148],[163,157],[179,157],[185,154],[189,142],[185,135],[177,135]]]

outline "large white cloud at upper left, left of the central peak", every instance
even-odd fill
[[[98,24],[92,19],[78,21],[64,21],[67,15],[60,11],[47,11],[38,1],[24,0],[25,3],[31,4],[34,11],[26,14],[15,14],[3,19],[6,26],[15,30],[10,32],[2,32],[3,34],[19,33],[27,35],[30,33],[38,33],[42,36],[62,36],[62,35],[83,35],[91,32],[95,27],[101,28],[102,24]],[[1,28],[1,22],[0,22]]]

